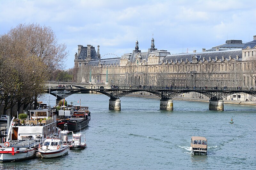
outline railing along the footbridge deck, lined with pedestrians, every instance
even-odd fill
[[[148,89],[148,90],[245,90],[254,91],[256,88],[253,87],[184,87],[184,86],[102,86],[102,85],[88,85],[88,86],[72,86],[72,85],[62,85],[62,86],[44,86],[44,89]]]

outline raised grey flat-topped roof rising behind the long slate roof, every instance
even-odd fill
[[[231,50],[235,48],[243,48],[244,44],[242,40],[227,40],[225,44],[221,44],[215,47],[212,47],[211,49],[207,49],[206,51],[216,51],[216,48],[219,48],[219,50]]]

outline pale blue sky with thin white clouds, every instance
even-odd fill
[[[0,0],[0,34],[18,24],[50,26],[74,67],[77,45],[100,45],[102,58],[151,46],[171,54],[202,52],[226,40],[253,40],[256,1],[249,0]],[[115,54],[115,55],[114,55]]]

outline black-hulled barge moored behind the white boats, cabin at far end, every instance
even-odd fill
[[[57,122],[57,127],[63,130],[78,131],[85,128],[91,119],[91,112],[88,107],[79,107],[79,110],[74,111],[71,118],[60,120]]]

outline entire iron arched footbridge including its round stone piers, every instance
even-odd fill
[[[121,100],[120,98],[134,92],[149,92],[159,96],[160,100],[160,110],[173,110],[173,100],[172,98],[187,92],[197,92],[201,93],[210,98],[209,100],[209,110],[224,110],[223,98],[228,95],[235,93],[247,93],[256,97],[256,90],[251,88],[237,89],[237,88],[225,88],[218,89],[216,87],[208,87],[206,89],[201,87],[186,87],[186,88],[175,88],[169,89],[165,87],[127,87],[119,86],[117,88],[112,88],[109,85],[48,85],[44,88],[46,93],[50,93],[57,97],[57,102],[60,100],[79,92],[99,92],[108,96],[109,99],[109,110],[121,110]]]

